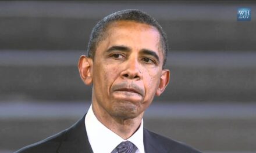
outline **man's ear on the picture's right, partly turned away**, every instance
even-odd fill
[[[161,78],[160,78],[160,83],[157,89],[157,92],[155,93],[157,96],[160,96],[163,91],[165,90],[166,86],[168,85],[170,81],[170,71],[165,69],[162,70]]]

